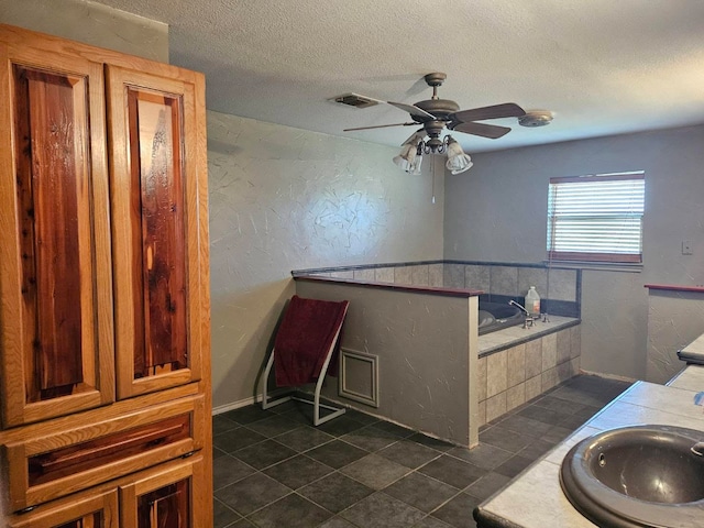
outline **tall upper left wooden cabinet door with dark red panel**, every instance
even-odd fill
[[[0,410],[114,400],[102,65],[0,31]]]

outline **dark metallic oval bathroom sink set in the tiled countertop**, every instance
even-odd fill
[[[560,484],[570,503],[600,527],[701,528],[703,441],[703,431],[670,426],[603,431],[570,450]]]

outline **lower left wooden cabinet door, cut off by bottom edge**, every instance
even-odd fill
[[[118,491],[82,493],[14,516],[9,528],[118,528]]]

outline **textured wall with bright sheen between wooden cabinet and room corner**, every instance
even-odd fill
[[[442,170],[396,148],[209,112],[213,405],[252,397],[292,270],[440,258]]]

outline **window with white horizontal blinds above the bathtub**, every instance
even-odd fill
[[[642,172],[550,178],[550,260],[642,262]]]

